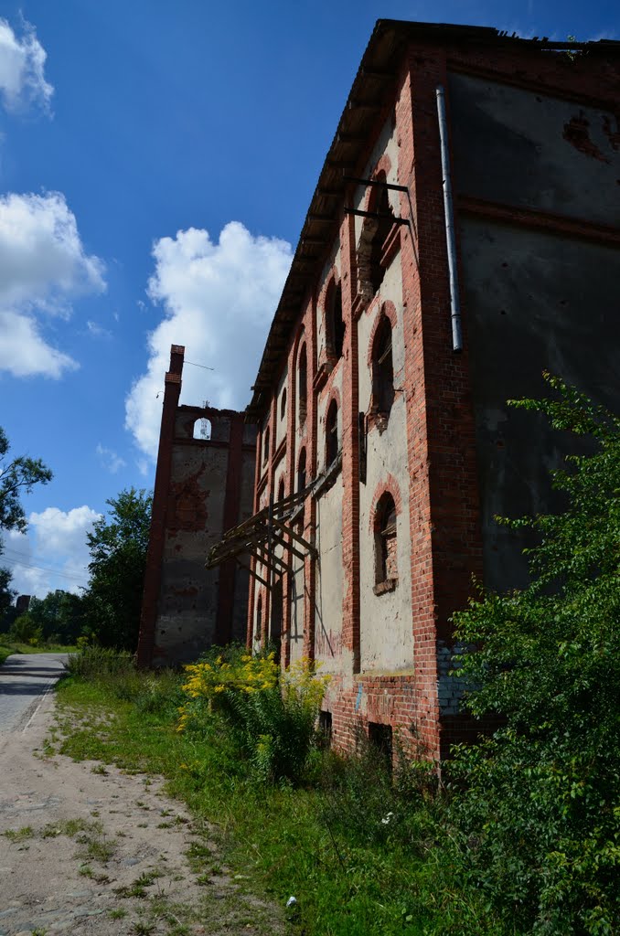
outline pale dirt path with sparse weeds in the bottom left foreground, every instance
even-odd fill
[[[0,738],[0,936],[284,932],[160,781],[44,756],[53,706]]]

